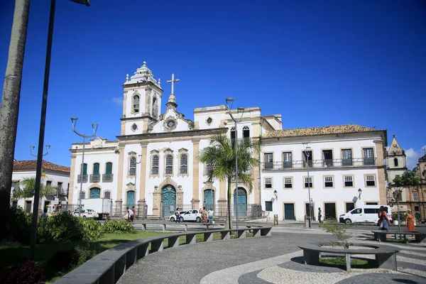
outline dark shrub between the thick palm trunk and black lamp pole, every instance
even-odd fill
[[[11,236],[22,244],[30,243],[31,219],[33,214],[27,214],[21,207],[11,207]]]

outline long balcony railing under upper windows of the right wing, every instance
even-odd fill
[[[352,159],[327,159],[327,160],[309,160],[310,168],[346,168],[346,167],[364,167],[376,165],[376,158],[352,158]],[[263,170],[284,170],[306,168],[304,160],[292,160],[285,162],[263,163]]]

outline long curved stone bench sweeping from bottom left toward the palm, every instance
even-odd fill
[[[83,263],[75,270],[67,273],[62,278],[55,281],[56,284],[113,284],[116,283],[126,270],[136,263],[143,256],[148,256],[151,252],[163,251],[164,240],[168,239],[168,248],[178,247],[179,237],[185,236],[185,244],[195,244],[198,234],[202,234],[203,241],[213,241],[213,234],[220,233],[222,240],[230,239],[231,233],[236,232],[239,238],[246,237],[246,231],[253,232],[253,237],[271,236],[271,226],[256,227],[246,229],[214,230],[214,231],[193,231],[181,234],[165,234],[161,236],[149,236],[143,239],[128,241],[124,244],[114,246],[114,248],[97,254],[89,261]],[[243,234],[244,233],[244,234]],[[149,246],[151,244],[151,251]]]

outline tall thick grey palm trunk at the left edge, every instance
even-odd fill
[[[30,0],[16,0],[0,109],[0,239],[9,234],[13,156]]]

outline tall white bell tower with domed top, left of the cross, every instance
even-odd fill
[[[148,125],[159,119],[161,114],[160,78],[155,80],[146,62],[124,82],[123,115],[121,136],[145,133]]]

